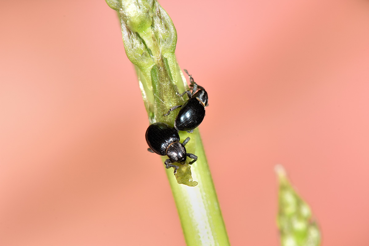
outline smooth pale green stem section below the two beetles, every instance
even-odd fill
[[[192,140],[195,141],[189,145]],[[192,165],[193,179],[199,184],[196,187],[179,185],[173,176],[173,171],[167,171],[184,238],[188,246],[230,245],[197,129],[191,135],[191,141],[187,143],[189,147],[186,145],[186,149],[199,157]]]

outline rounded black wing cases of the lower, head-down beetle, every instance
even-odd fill
[[[150,149],[162,156],[166,155],[166,149],[171,143],[179,141],[177,130],[163,122],[149,125],[145,137]]]

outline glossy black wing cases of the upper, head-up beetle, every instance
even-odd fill
[[[179,111],[174,126],[179,131],[189,131],[198,127],[205,117],[205,108],[196,97],[190,98]]]

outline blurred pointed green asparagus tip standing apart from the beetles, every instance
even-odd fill
[[[286,171],[276,166],[279,180],[277,226],[282,246],[318,246],[321,235],[310,207],[290,184]]]

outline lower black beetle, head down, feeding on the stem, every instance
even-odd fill
[[[178,131],[175,128],[170,127],[168,124],[156,122],[149,125],[145,136],[146,142],[150,147],[147,150],[161,156],[167,155],[169,159],[165,160],[165,167],[167,169],[174,167],[174,174],[177,173],[179,166],[172,163],[178,162],[184,164],[187,156],[193,159],[189,164],[192,164],[197,160],[196,155],[187,153],[186,148],[184,148],[184,145],[190,141],[190,138],[186,138],[183,143],[180,143]]]

